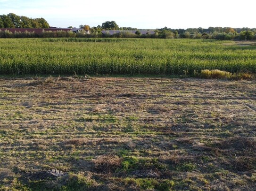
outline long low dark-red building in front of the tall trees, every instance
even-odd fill
[[[46,32],[46,31],[52,31],[52,32],[57,32],[57,31],[71,31],[71,29],[67,29],[67,28],[47,28],[47,29],[29,29],[29,28],[23,28],[23,29],[20,29],[20,28],[0,28],[1,31],[10,31],[12,33],[15,33],[15,32],[21,32],[21,33],[24,33],[24,32],[34,32],[36,34],[41,34],[43,32]]]

